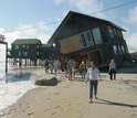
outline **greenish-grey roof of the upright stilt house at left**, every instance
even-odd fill
[[[36,44],[38,39],[17,39],[12,44]]]

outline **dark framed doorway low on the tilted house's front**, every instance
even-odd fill
[[[94,61],[96,65],[103,64],[103,56],[101,50],[88,52],[88,58],[91,62]]]

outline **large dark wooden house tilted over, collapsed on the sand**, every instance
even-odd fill
[[[95,61],[97,66],[107,66],[112,58],[119,65],[128,57],[123,28],[98,18],[70,11],[49,43],[55,43],[61,61],[73,57]]]

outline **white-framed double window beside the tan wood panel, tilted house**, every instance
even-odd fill
[[[80,34],[82,46],[87,47],[94,45],[93,37],[91,31],[84,32]]]

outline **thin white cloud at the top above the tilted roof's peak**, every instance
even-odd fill
[[[104,9],[103,2],[98,0],[53,0],[57,6],[61,3],[67,3],[70,7],[76,8],[78,11],[84,13],[93,13]],[[107,15],[103,12],[92,14],[106,19]]]

